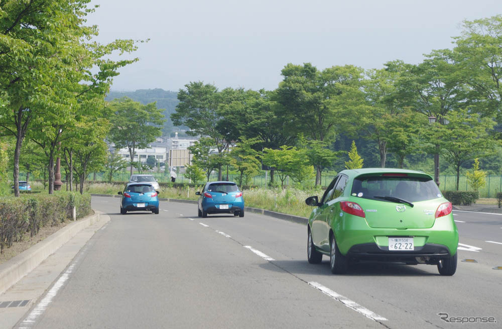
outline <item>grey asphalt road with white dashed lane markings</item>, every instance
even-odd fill
[[[326,256],[307,263],[306,226],[265,215],[199,218],[195,204],[177,202],[161,202],[158,215],[120,215],[119,199],[107,197],[92,207],[111,221],[45,310],[18,327],[502,327],[498,214],[454,211],[462,250],[456,274],[443,277],[436,266],[378,263],[332,275]],[[438,313],[497,323],[448,323]]]

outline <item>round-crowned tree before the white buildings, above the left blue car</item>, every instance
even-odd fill
[[[113,115],[108,138],[117,149],[128,149],[132,175],[135,150],[147,148],[157,137],[162,136],[162,124],[165,121],[162,109],[157,108],[155,102],[142,105],[128,97],[115,99],[110,106]]]

